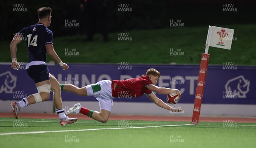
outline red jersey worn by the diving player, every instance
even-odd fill
[[[113,80],[115,82],[116,88],[112,92],[113,97],[116,98],[137,98],[145,94],[152,94],[152,91],[147,88],[148,85],[153,85],[151,81],[148,80],[146,75],[141,75],[139,78],[130,78],[127,80]],[[113,89],[112,89],[113,91]]]

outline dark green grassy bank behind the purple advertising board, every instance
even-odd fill
[[[24,26],[23,26],[24,27]],[[221,26],[235,29],[231,50],[209,48],[209,64],[256,65],[256,42],[254,24]],[[21,27],[22,28],[22,27]],[[51,27],[49,27],[51,29]],[[119,42],[117,32],[110,33],[110,41],[104,43],[102,36],[96,34],[94,42],[85,42],[85,35],[56,37],[54,50],[65,63],[113,63],[125,61],[130,64],[200,64],[205,50],[208,26],[191,28],[163,28],[154,30],[125,31],[132,42]],[[120,32],[118,32],[120,33]],[[122,32],[123,33],[123,32]],[[54,35],[54,31],[53,31]],[[10,61],[10,40],[0,42],[0,62]],[[75,48],[79,56],[66,56],[66,48]],[[184,56],[171,56],[171,48],[180,48]],[[7,55],[7,56],[6,56]],[[152,57],[152,58],[149,58]],[[26,43],[17,46],[17,60],[27,62]],[[47,62],[53,61],[47,57]]]

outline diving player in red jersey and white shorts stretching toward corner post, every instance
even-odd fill
[[[148,98],[154,102],[157,106],[164,109],[168,109],[173,112],[182,112],[183,109],[174,109],[171,106],[164,103],[161,99],[157,98],[153,92],[168,95],[175,92],[179,96],[180,91],[178,89],[170,89],[164,87],[157,87],[157,80],[160,77],[160,73],[151,68],[148,69],[146,75],[142,75],[139,78],[130,78],[127,80],[102,80],[96,84],[87,85],[79,88],[72,84],[61,84],[61,90],[67,92],[73,92],[77,95],[94,96],[99,101],[100,112],[92,111],[81,106],[80,103],[76,103],[72,108],[67,111],[67,114],[84,114],[94,120],[102,123],[107,123],[109,115],[113,106],[113,98],[119,97],[119,94],[123,94],[122,91],[128,92],[128,96],[131,98],[138,98],[144,93]]]

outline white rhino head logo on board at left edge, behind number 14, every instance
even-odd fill
[[[12,90],[16,87],[17,77],[12,75],[10,71],[0,74],[0,93],[5,92],[12,94]]]

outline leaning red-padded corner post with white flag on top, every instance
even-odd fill
[[[205,86],[205,80],[206,80],[207,68],[208,68],[208,62],[209,62],[209,54],[208,54],[209,46],[230,50],[232,40],[233,40],[233,34],[234,34],[233,29],[209,26],[206,44],[205,44],[205,52],[202,54],[202,57],[201,57],[201,64],[200,64],[200,70],[198,75],[198,83],[195,91],[195,103],[194,103],[191,124],[199,123],[204,86]]]

